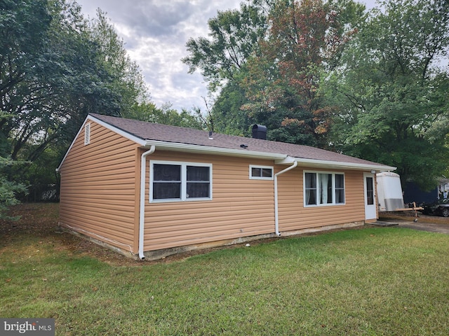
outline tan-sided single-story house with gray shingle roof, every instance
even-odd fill
[[[134,258],[376,221],[375,174],[319,148],[90,114],[60,173],[60,221]]]

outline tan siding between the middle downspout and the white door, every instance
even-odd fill
[[[279,176],[279,231],[364,221],[363,172],[332,172],[344,173],[345,204],[304,207],[303,170],[297,168]]]

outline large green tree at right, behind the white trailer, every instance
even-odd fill
[[[423,190],[449,166],[447,1],[384,1],[344,52],[328,84],[340,106],[333,144],[340,151],[398,167]]]

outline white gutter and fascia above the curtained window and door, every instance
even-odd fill
[[[363,163],[353,163],[353,162],[340,162],[340,161],[325,161],[316,159],[304,159],[304,158],[293,158],[288,156],[285,160],[276,160],[276,165],[288,165],[297,161],[300,166],[307,167],[322,167],[329,169],[356,169],[356,170],[375,170],[376,172],[391,172],[396,170],[396,167],[385,166],[385,165],[370,165]]]

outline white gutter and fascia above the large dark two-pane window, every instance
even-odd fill
[[[203,154],[214,154],[214,155],[231,155],[241,158],[260,158],[267,160],[283,160],[286,159],[288,155],[279,153],[264,153],[257,151],[246,151],[246,149],[232,149],[232,148],[220,148],[213,146],[201,146],[201,145],[191,145],[191,144],[180,144],[174,142],[166,141],[156,141],[147,140],[146,147],[156,146],[156,148],[163,149],[166,151],[183,151],[189,153],[203,153]]]

